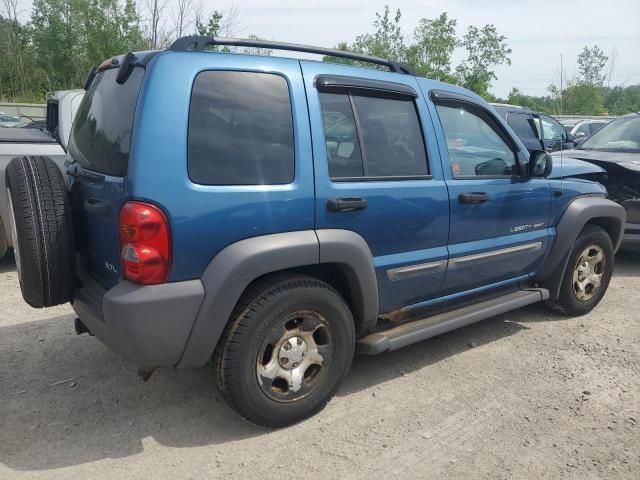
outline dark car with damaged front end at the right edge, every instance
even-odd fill
[[[563,157],[593,163],[606,172],[600,181],[609,198],[627,211],[622,246],[640,250],[640,114],[611,121]]]

